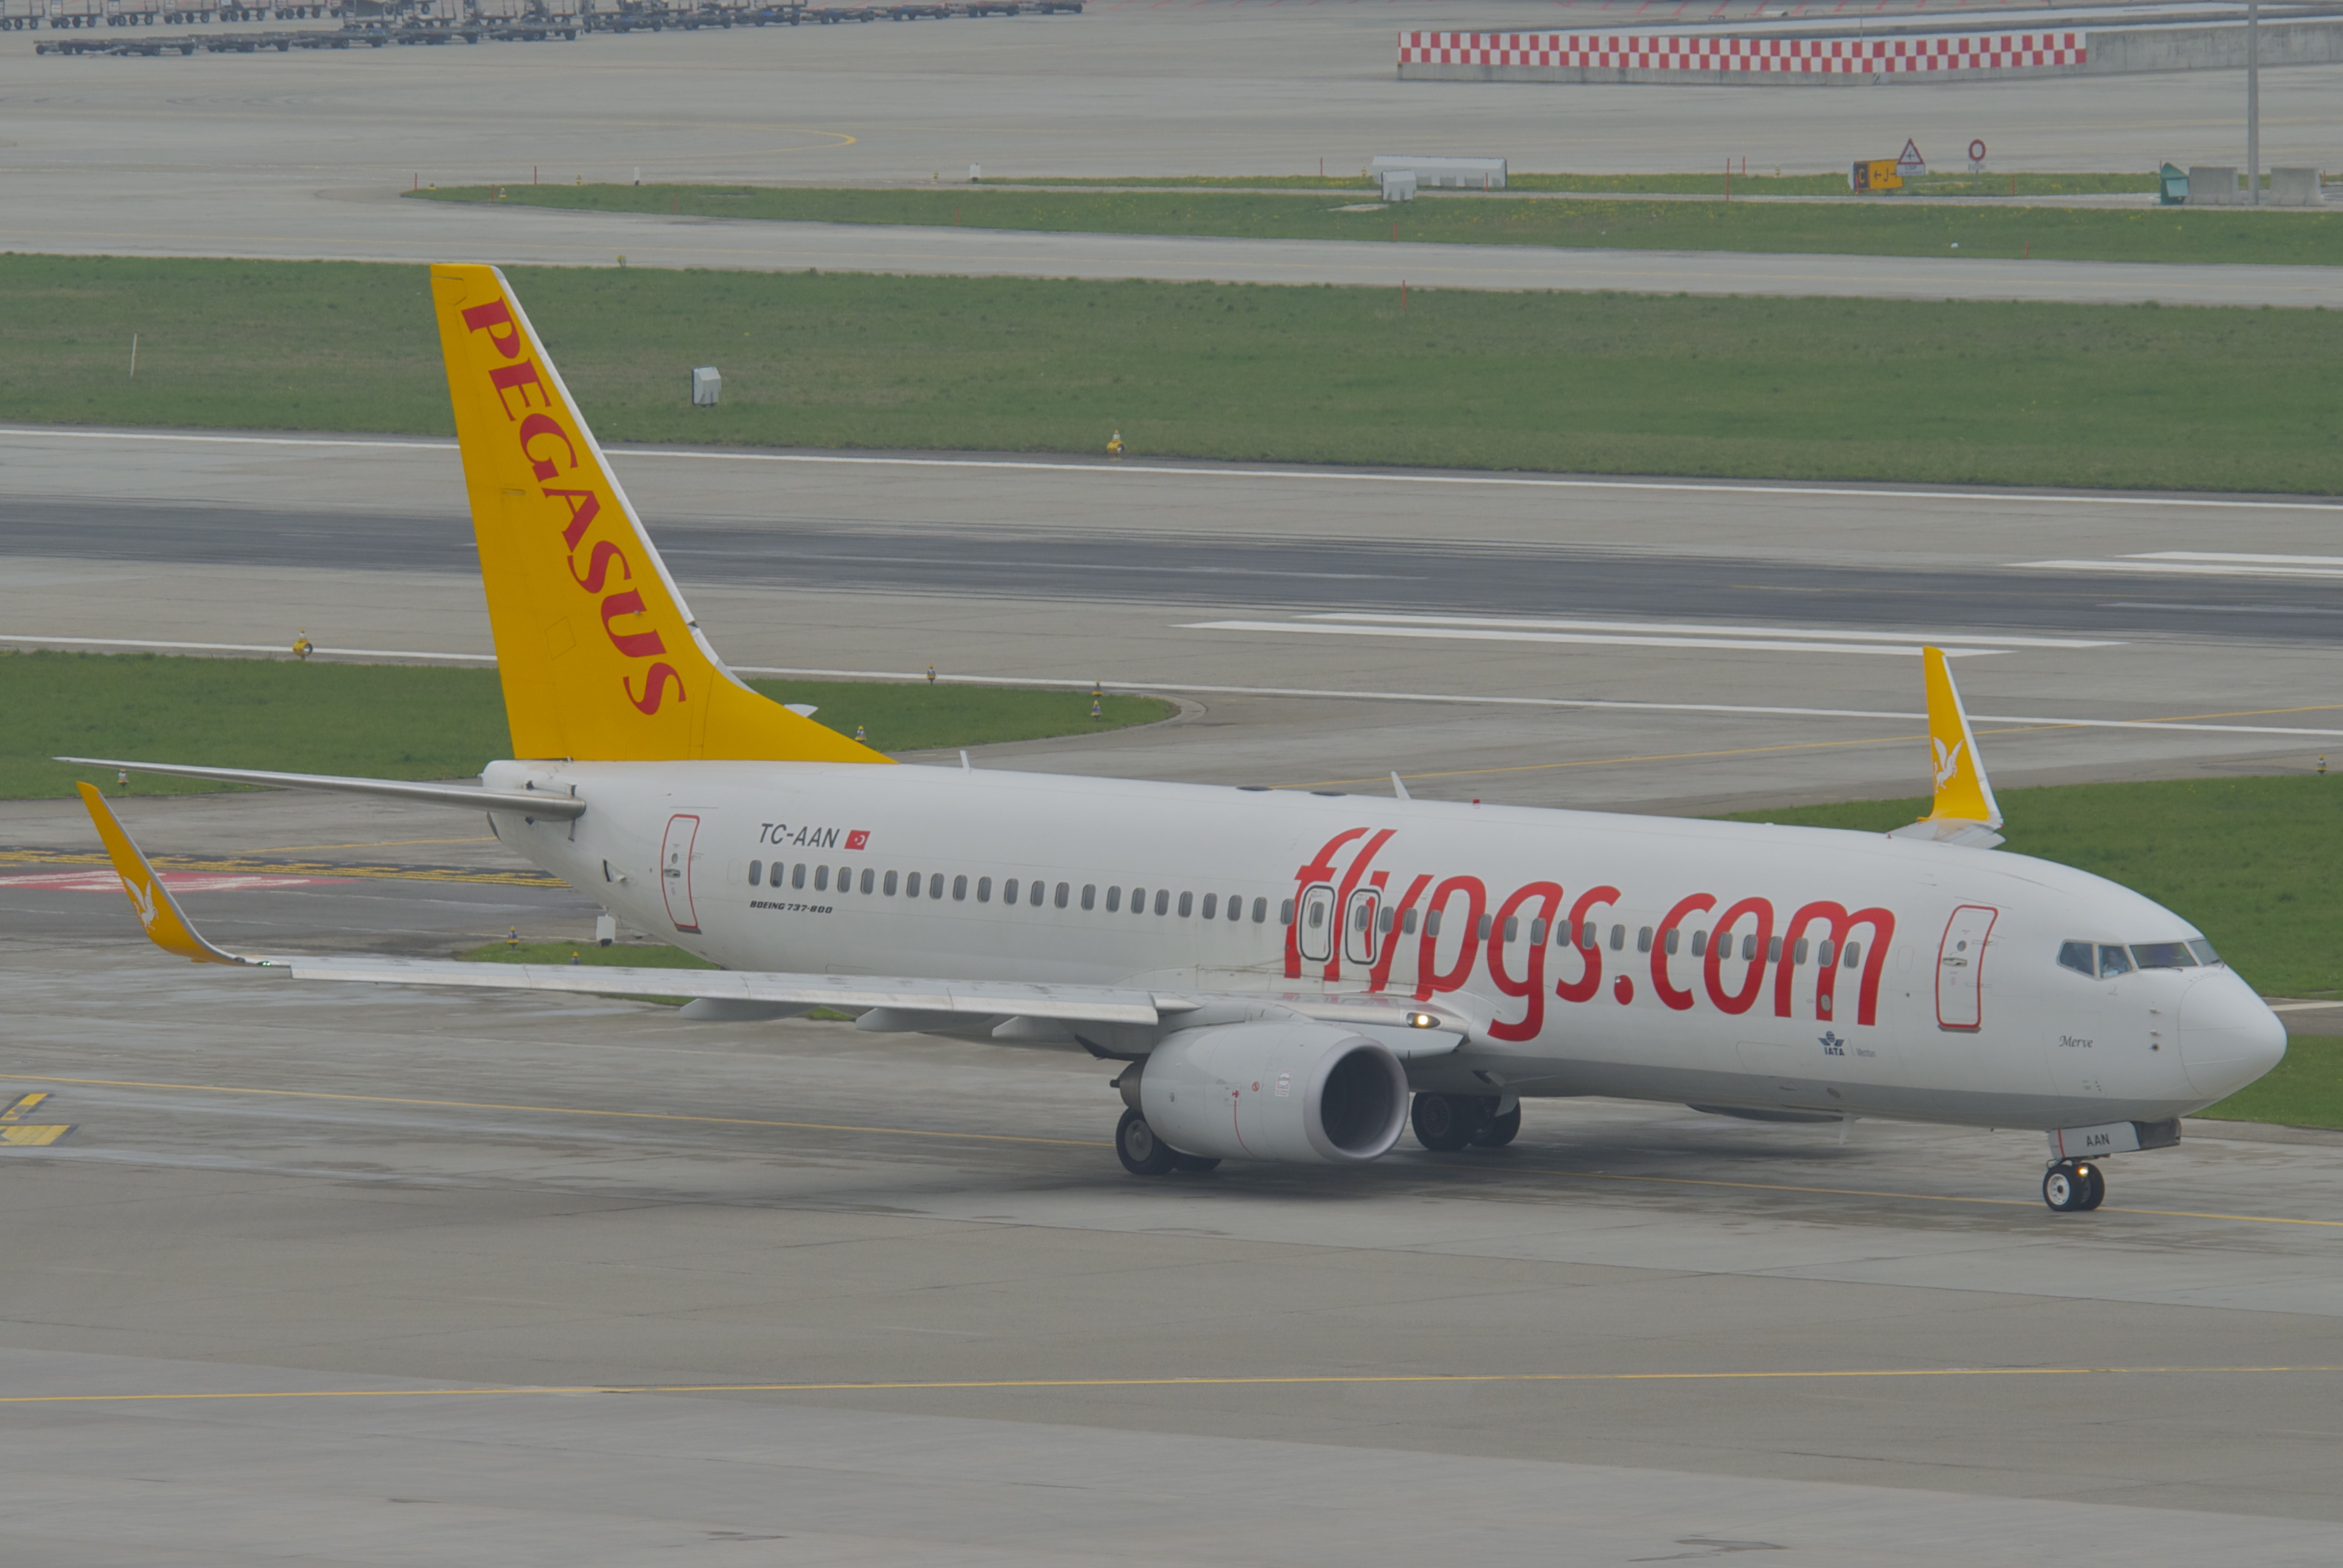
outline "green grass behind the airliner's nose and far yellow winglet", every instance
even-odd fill
[[[1886,832],[1924,799],[1741,811]],[[2006,851],[2120,881],[2195,921],[2263,996],[2343,991],[2343,778],[2181,778],[2003,790]],[[2081,935],[2081,933],[2078,933]],[[2153,933],[2151,933],[2153,935]]]

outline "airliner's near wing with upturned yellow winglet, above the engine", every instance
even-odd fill
[[[169,954],[194,963],[232,963],[288,973],[293,980],[358,980],[377,984],[436,984],[504,991],[569,991],[588,996],[689,996],[773,1008],[836,1008],[879,1013],[886,1031],[949,1029],[954,1020],[1047,1020],[1054,1024],[1155,1027],[1200,1013],[1211,1001],[1270,1005],[1303,1017],[1343,1022],[1394,1043],[1399,1055],[1455,1050],[1471,1024],[1450,1008],[1382,996],[1186,996],[1146,987],[1033,984],[1017,980],[928,980],[916,975],[792,975],[717,968],[602,968],[586,963],[462,963],[436,959],[309,959],[246,956],[209,942],[171,898],[145,853],[131,841],[112,806],[94,785],[80,785],[82,804],[105,841],[122,891],[148,938]],[[862,1027],[872,1027],[865,1017]],[[1064,1036],[1059,1036],[1064,1038]]]

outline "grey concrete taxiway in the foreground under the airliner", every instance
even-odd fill
[[[312,858],[448,820],[124,811]],[[590,914],[455,893],[190,909],[403,949]],[[0,1146],[0,1521],[42,1561],[2343,1549],[2343,1139],[2193,1125],[2092,1216],[2034,1198],[2038,1134],[1607,1102],[1495,1153],[1139,1184],[1082,1057],[295,989],[127,923],[0,893],[0,1090],[77,1127]]]

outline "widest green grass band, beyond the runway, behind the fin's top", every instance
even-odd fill
[[[2343,490],[2343,312],[511,279],[604,441]],[[450,431],[422,267],[0,255],[0,298],[5,420]],[[724,405],[689,408],[708,363]]]

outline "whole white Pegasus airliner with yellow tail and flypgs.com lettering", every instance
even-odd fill
[[[722,966],[251,959],[82,795],[148,933],[295,980],[696,996],[1120,1064],[1141,1177],[1350,1165],[1523,1099],[2050,1134],[2043,1198],[2270,1071],[2284,1029],[2181,916],[1996,853],[1926,654],[1935,809],[1893,834],[890,766],[708,647],[504,277],[431,286],[513,762],[480,785],[73,759],[485,809],[520,855]]]

